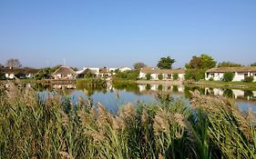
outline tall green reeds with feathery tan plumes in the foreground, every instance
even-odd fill
[[[220,96],[192,93],[110,114],[68,96],[0,88],[0,158],[255,158],[255,114]]]

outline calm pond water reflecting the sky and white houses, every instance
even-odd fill
[[[159,104],[159,94],[166,94],[174,98],[180,97],[189,104],[190,90],[198,90],[200,94],[215,94],[233,98],[241,111],[248,111],[250,108],[253,112],[256,112],[256,90],[161,84],[108,84],[107,88],[79,88],[75,84],[32,86],[43,94],[46,93],[45,90],[55,94],[63,94],[65,92],[74,104],[78,102],[79,97],[83,97],[85,100],[90,99],[94,104],[97,102],[103,104],[108,111],[113,113],[117,112],[120,106],[128,103]]]

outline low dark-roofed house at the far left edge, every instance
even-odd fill
[[[36,68],[24,67],[24,68],[6,68],[1,67],[0,72],[5,74],[5,78],[14,79],[17,78],[32,78],[38,72]]]

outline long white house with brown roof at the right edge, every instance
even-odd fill
[[[223,75],[228,72],[234,74],[233,81],[242,81],[247,76],[253,76],[254,81],[256,81],[256,66],[210,68],[205,73],[205,79],[221,81],[223,79]]]

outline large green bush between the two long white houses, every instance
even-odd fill
[[[202,69],[188,69],[185,73],[185,80],[200,81],[205,77],[205,71]]]

